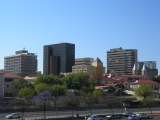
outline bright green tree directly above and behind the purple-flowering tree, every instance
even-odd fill
[[[46,90],[50,90],[50,86],[46,83],[39,83],[35,85],[35,91],[37,92],[37,94],[42,93]]]

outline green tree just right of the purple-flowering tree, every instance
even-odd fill
[[[50,88],[51,94],[55,97],[65,95],[66,86],[64,85],[53,85]]]

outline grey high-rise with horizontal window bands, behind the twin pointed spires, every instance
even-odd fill
[[[107,51],[107,73],[116,72],[121,75],[131,75],[134,64],[137,63],[136,49],[110,49]]]

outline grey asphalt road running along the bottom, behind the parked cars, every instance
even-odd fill
[[[160,111],[160,107],[154,107],[152,108],[153,111]],[[113,108],[114,113],[122,113],[124,109],[122,108]],[[150,113],[148,108],[130,108],[130,112],[137,113],[137,112],[145,112],[145,113]],[[5,116],[10,113],[0,113],[0,120],[6,120]],[[79,114],[79,116],[85,116],[85,115],[90,115],[89,110],[79,110],[79,111],[74,111],[73,112],[74,116]],[[92,109],[92,114],[94,115],[107,115],[111,114],[110,109]],[[58,118],[58,117],[66,117],[66,116],[71,116],[72,111],[71,110],[66,110],[66,111],[58,111],[58,114],[56,111],[46,111],[46,117],[47,118]],[[160,115],[160,113],[159,113]],[[24,119],[25,120],[35,120],[39,118],[43,118],[43,111],[40,112],[25,112],[24,114]]]

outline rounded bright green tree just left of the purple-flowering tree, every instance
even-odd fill
[[[25,99],[32,98],[34,94],[35,94],[35,91],[27,87],[19,90],[19,95]]]

